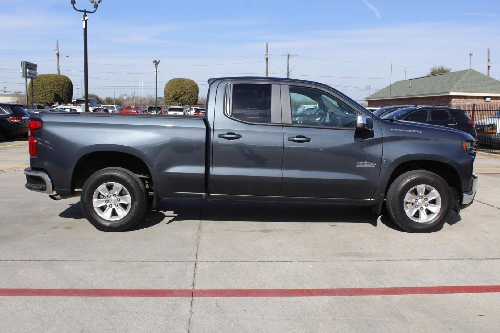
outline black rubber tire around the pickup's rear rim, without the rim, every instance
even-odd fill
[[[100,185],[107,182],[121,184],[130,195],[131,203],[128,213],[115,221],[99,216],[92,204],[94,192]],[[147,207],[147,192],[134,173],[124,168],[111,167],[99,170],[87,179],[81,190],[80,202],[83,215],[95,228],[103,231],[125,231],[135,226],[144,215]]]

